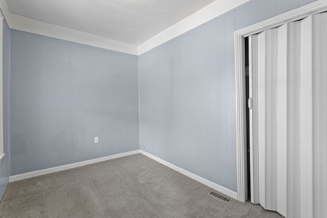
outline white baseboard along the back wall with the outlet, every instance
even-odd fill
[[[85,166],[85,165],[92,164],[92,163],[98,163],[98,162],[102,162],[102,161],[106,161],[106,160],[112,160],[115,158],[125,157],[125,156],[138,154],[138,153],[140,153],[140,150],[110,155],[107,157],[100,157],[100,158],[96,158],[96,159],[92,159],[92,160],[85,160],[82,162],[71,163],[71,164],[51,167],[51,168],[47,168],[47,169],[40,169],[39,171],[33,171],[33,172],[25,173],[25,174],[18,174],[18,175],[10,176],[9,182],[14,182],[14,181],[22,180],[22,179],[28,179],[31,177],[35,177],[35,176],[41,176],[44,174],[50,174],[50,173],[55,173],[55,172],[59,172],[59,171],[64,171],[65,169],[71,169],[71,168],[75,168],[75,167],[79,167],[79,166]]]

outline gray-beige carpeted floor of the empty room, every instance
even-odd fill
[[[136,154],[11,182],[0,217],[282,217],[211,190]]]

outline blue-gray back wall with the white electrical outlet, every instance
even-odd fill
[[[10,36],[10,175],[139,149],[137,56]]]

